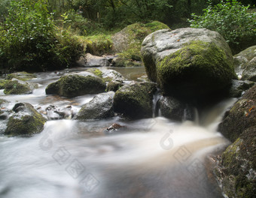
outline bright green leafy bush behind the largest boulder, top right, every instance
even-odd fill
[[[221,1],[215,6],[209,1],[202,16],[192,13],[190,26],[218,31],[233,52],[238,52],[256,43],[256,13],[248,12],[248,7],[236,0]]]

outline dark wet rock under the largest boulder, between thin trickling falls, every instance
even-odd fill
[[[177,121],[194,120],[194,110],[176,98],[162,96],[158,101],[161,115]]]

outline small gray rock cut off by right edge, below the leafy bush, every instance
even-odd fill
[[[252,58],[250,62],[245,64],[245,69],[242,72],[242,80],[256,82],[256,56]]]

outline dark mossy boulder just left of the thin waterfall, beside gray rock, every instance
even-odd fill
[[[125,118],[150,118],[153,115],[155,83],[132,83],[118,89],[114,95],[114,112]]]

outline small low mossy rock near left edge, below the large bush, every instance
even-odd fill
[[[29,95],[37,86],[33,83],[12,79],[5,84],[5,95]]]

